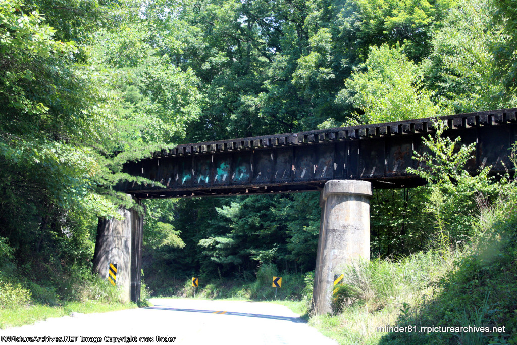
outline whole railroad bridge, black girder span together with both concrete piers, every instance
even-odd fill
[[[516,110],[440,117],[448,127],[445,136],[460,137],[462,144],[476,143],[468,171],[491,166],[491,173],[498,174],[511,166]],[[339,266],[354,257],[369,257],[372,187],[424,185],[406,168],[417,168],[413,152],[423,152],[422,138],[433,133],[433,119],[421,118],[177,145],[126,163],[124,172],[149,182],[125,182],[117,189],[137,200],[321,191],[313,307],[325,313],[330,311],[329,289]],[[94,265],[107,277],[108,264],[117,263],[117,284],[126,289],[128,299],[136,301],[143,216],[132,210],[121,212],[124,221],[99,221]]]

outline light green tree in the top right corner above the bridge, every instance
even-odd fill
[[[515,93],[507,92],[500,82],[503,74],[512,73],[511,67],[497,69],[502,62],[492,52],[494,44],[506,46],[504,42],[509,42],[504,30],[492,25],[490,3],[462,0],[434,36],[433,52],[424,64],[426,86],[435,90],[435,97],[453,112],[515,105]]]

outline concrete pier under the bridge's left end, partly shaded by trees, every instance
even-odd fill
[[[135,209],[120,207],[122,220],[99,219],[93,271],[102,279],[110,275],[110,263],[116,264],[116,286],[121,301],[140,301],[142,273],[142,236],[144,216]]]

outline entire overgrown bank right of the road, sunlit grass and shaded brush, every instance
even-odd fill
[[[463,247],[439,245],[344,267],[334,314],[312,316],[310,323],[341,344],[517,344],[514,205],[506,199],[482,207]],[[487,329],[461,328],[469,326]]]

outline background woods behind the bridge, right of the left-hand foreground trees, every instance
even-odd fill
[[[170,4],[155,5],[159,11]],[[183,2],[159,25],[169,25],[182,42],[181,51],[165,53],[200,78],[201,113],[184,141],[510,107],[514,89],[495,78],[510,69],[492,52],[496,42],[512,38],[501,34],[493,6],[478,0]],[[504,13],[510,21],[511,11]],[[429,188],[375,191],[373,256],[435,246],[433,202],[451,201],[440,195],[441,201]],[[466,217],[472,197],[465,196],[460,215],[439,206],[449,212],[443,221]],[[218,277],[264,262],[302,271],[313,265],[317,196],[179,200],[174,213],[171,223],[186,247],[164,254],[166,264],[156,251],[149,261],[169,274]],[[449,242],[464,241],[464,227]],[[160,284],[154,288],[160,291]]]

